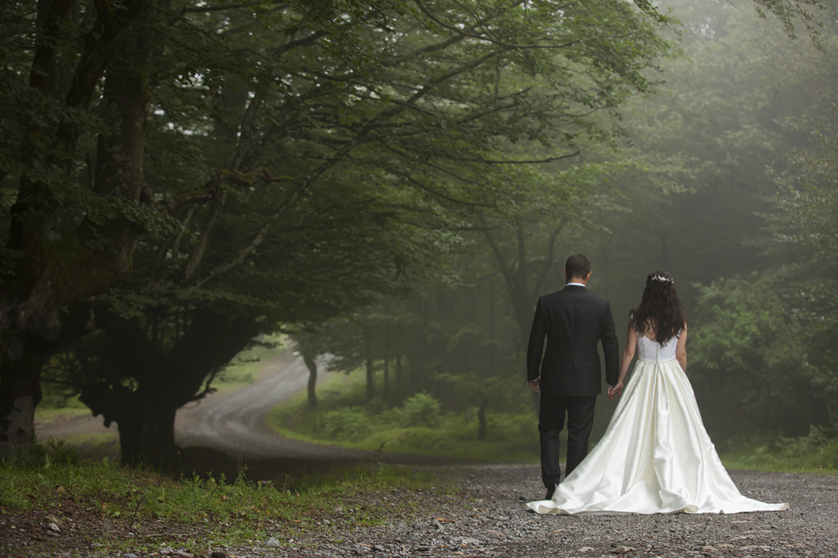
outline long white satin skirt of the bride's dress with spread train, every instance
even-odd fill
[[[539,514],[737,514],[779,511],[739,493],[675,359],[638,361],[603,439]]]

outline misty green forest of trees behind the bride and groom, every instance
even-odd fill
[[[574,253],[621,350],[675,278],[720,449],[834,440],[836,32],[815,0],[3,2],[3,456],[75,398],[172,457],[282,336],[280,429],[535,459],[526,340]]]

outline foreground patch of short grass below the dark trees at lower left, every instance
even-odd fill
[[[280,530],[288,534],[282,545],[290,545],[295,531],[334,516],[341,499],[389,488],[441,486],[427,475],[381,465],[346,467],[293,485],[287,478],[249,482],[223,475],[176,482],[106,459],[79,461],[61,442],[41,448],[39,466],[14,460],[0,464],[0,518],[17,518],[18,525],[27,516],[44,521],[44,514],[49,521],[58,518],[56,523],[70,519],[83,533],[76,536],[86,539],[81,543],[92,543],[104,555],[147,555],[178,540],[190,552],[209,555],[225,545],[263,545],[269,531],[274,536]],[[358,523],[378,519],[359,516]]]

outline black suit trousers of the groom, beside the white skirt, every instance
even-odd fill
[[[546,488],[561,480],[559,432],[567,414],[567,462],[565,478],[587,456],[587,442],[593,426],[593,407],[597,395],[582,397],[541,393],[538,432],[541,441],[541,479]]]

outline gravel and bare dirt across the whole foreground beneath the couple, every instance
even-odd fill
[[[86,504],[74,512],[65,497],[52,509],[3,514],[0,555],[120,558],[97,549],[93,540],[106,536],[122,541],[122,558],[838,557],[838,479],[831,476],[732,471],[742,493],[789,502],[783,512],[568,517],[525,508],[543,492],[537,465],[416,468],[440,484],[342,495],[298,519],[268,519],[264,535],[239,546],[215,540],[241,525],[146,519],[129,526]],[[63,519],[60,533],[49,532],[46,514]]]

